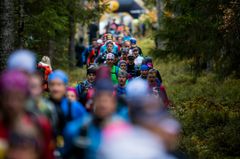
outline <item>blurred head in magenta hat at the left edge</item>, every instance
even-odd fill
[[[23,114],[29,97],[29,77],[23,72],[10,70],[0,76],[0,113],[11,124]]]

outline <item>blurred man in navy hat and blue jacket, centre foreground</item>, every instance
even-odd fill
[[[101,145],[102,130],[109,122],[120,120],[115,114],[116,96],[111,79],[101,79],[95,86],[94,111],[86,121],[75,121],[65,131],[68,138],[68,158],[96,159]]]

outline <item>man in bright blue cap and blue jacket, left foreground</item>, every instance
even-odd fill
[[[64,128],[73,120],[83,118],[86,115],[86,110],[82,104],[77,101],[71,102],[66,98],[68,77],[65,72],[55,70],[49,75],[49,96],[51,102],[57,111],[58,122],[54,129],[56,139],[57,156],[61,156],[65,149],[63,138]]]

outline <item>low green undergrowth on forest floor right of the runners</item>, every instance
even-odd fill
[[[240,80],[194,78],[186,61],[158,61],[172,113],[183,127],[180,149],[190,158],[240,157]]]

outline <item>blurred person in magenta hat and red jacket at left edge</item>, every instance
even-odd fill
[[[40,114],[35,115],[34,112],[26,111],[26,104],[29,99],[28,82],[29,77],[23,71],[7,70],[0,76],[0,157],[5,158],[11,154],[12,145],[10,141],[13,132],[30,123],[33,124],[32,126],[39,126],[41,130],[38,133],[43,137],[41,140],[44,145],[42,157],[53,159],[53,149],[50,147],[52,131],[49,120]],[[18,153],[18,158],[25,157],[24,149],[21,150],[22,152]]]

